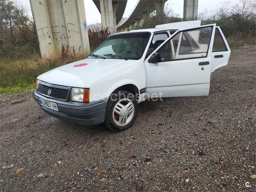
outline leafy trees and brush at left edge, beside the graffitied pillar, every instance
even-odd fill
[[[39,54],[39,42],[34,22],[22,6],[12,1],[0,1],[1,57],[20,58]]]

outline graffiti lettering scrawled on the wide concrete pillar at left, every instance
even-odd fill
[[[62,38],[62,36],[63,36],[64,39],[71,38],[72,37],[72,33],[78,33],[76,30],[74,30],[74,28],[72,28],[72,26],[76,26],[76,25],[73,24],[73,23],[68,23],[67,27],[64,26],[64,25],[62,25],[61,27],[60,26],[53,26],[53,27],[51,27],[53,38],[54,38],[54,35],[56,33],[61,33],[61,37],[60,38]],[[48,27],[44,27],[44,28],[38,29],[38,31],[41,32],[41,34],[38,34],[38,37],[44,37],[44,40],[47,37],[51,38],[51,36],[49,36],[48,33],[44,32],[45,28],[48,28]],[[71,33],[71,35],[70,35],[70,33]]]

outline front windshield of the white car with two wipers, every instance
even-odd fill
[[[108,36],[88,58],[138,60],[144,53],[149,36],[148,32]]]

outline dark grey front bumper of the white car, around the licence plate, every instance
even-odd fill
[[[105,112],[108,99],[97,100],[89,103],[75,102],[75,101],[59,101],[46,98],[38,94],[36,90],[33,91],[33,98],[39,104],[38,97],[57,103],[59,111],[41,106],[51,116],[54,116],[63,121],[68,121],[76,124],[95,125],[101,124],[105,121]]]

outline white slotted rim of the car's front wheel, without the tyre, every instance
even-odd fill
[[[134,104],[132,100],[124,98],[119,100],[113,109],[113,121],[118,126],[125,126],[131,122],[134,116]]]

